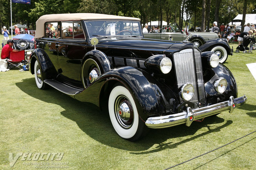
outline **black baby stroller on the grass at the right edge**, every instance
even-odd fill
[[[247,47],[250,44],[250,48]],[[236,48],[236,53],[244,51],[244,53],[252,53],[255,50],[255,35],[251,37],[244,37],[243,43]]]

